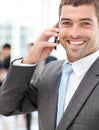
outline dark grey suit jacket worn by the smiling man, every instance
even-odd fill
[[[11,66],[0,92],[0,113],[38,110],[40,130],[99,130],[99,58],[90,67],[55,128],[63,61],[48,64],[30,84],[35,67]]]

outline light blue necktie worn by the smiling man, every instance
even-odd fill
[[[67,90],[67,85],[68,85],[68,79],[72,71],[73,69],[72,69],[71,64],[67,63],[63,66],[62,77],[61,77],[61,82],[59,86],[56,126],[58,126],[64,112],[65,95],[66,95],[66,90]]]

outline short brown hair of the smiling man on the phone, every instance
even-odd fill
[[[61,15],[63,5],[72,5],[76,7],[80,5],[91,5],[91,4],[95,5],[96,16],[99,22],[99,0],[61,0],[59,6],[59,17]]]

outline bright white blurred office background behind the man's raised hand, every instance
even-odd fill
[[[35,42],[46,27],[58,21],[60,0],[0,0],[0,46],[10,43],[11,58],[27,53],[26,46]],[[58,58],[64,53],[59,46],[53,52]]]

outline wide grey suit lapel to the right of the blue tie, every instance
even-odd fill
[[[67,130],[74,121],[96,84],[99,82],[99,79],[96,77],[97,74],[99,75],[99,58],[81,81],[66,111],[64,112],[57,130]]]

